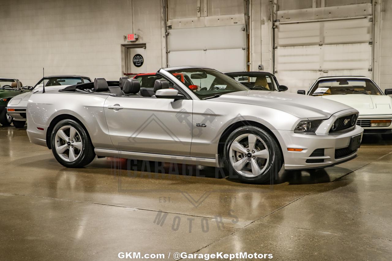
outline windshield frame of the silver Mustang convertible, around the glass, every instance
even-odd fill
[[[187,88],[185,86],[185,84],[180,81],[176,75],[174,74],[178,74],[178,73],[185,73],[184,71],[186,70],[196,70],[196,71],[205,71],[211,74],[212,73],[217,73],[220,76],[222,76],[223,79],[227,79],[228,83],[232,83],[238,87],[240,87],[240,89],[238,90],[226,90],[226,91],[222,91],[222,92],[215,92],[215,93],[211,93],[211,94],[206,94],[206,95],[197,95],[195,92],[193,92],[191,89]],[[195,73],[195,72],[189,72],[189,73]],[[217,71],[215,69],[212,68],[207,68],[207,67],[199,67],[199,66],[183,66],[183,67],[171,67],[171,68],[166,68],[166,69],[160,69],[156,74],[160,74],[163,75],[167,78],[169,78],[173,83],[175,83],[178,87],[180,87],[184,92],[186,92],[187,94],[189,94],[189,96],[191,96],[192,99],[194,100],[206,100],[208,98],[216,98],[220,95],[223,94],[227,94],[227,93],[231,93],[231,92],[237,92],[237,91],[250,91],[249,88],[247,88],[245,85],[237,82],[236,80],[234,80],[233,78],[231,78],[230,76],[224,74],[223,72]],[[215,79],[213,80],[213,82],[215,81]],[[212,83],[213,83],[212,82]],[[223,89],[222,89],[223,90]],[[218,94],[218,96],[216,96]]]

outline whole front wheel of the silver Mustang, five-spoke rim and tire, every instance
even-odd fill
[[[282,155],[267,131],[245,126],[234,130],[225,143],[225,167],[245,183],[265,183],[278,174]]]

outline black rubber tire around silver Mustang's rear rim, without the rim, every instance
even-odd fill
[[[65,161],[64,159],[62,159],[56,152],[56,145],[55,145],[55,137],[56,137],[56,133],[57,131],[63,127],[63,126],[72,126],[74,127],[80,134],[80,138],[82,139],[82,150],[81,150],[81,155],[79,156],[78,159],[76,159],[73,162],[68,162]],[[51,148],[52,148],[52,152],[54,155],[54,158],[57,159],[57,161],[65,166],[65,167],[71,167],[71,168],[77,168],[77,167],[82,167],[83,162],[85,161],[85,158],[87,156],[87,150],[91,150],[91,141],[89,136],[87,135],[86,131],[84,130],[84,128],[82,127],[82,125],[80,125],[80,123],[78,123],[77,121],[74,120],[70,120],[70,119],[66,119],[66,120],[61,120],[59,121],[53,128],[52,132],[51,132]],[[91,146],[91,147],[90,147]]]

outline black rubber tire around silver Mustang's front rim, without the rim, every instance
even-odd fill
[[[234,141],[235,138],[242,134],[254,134],[259,136],[267,145],[269,150],[269,162],[268,167],[261,173],[259,176],[256,177],[245,177],[238,173],[232,166],[230,162],[230,145]],[[240,127],[234,130],[226,140],[225,147],[224,147],[224,160],[225,160],[225,167],[229,171],[229,173],[233,173],[238,176],[238,178],[246,183],[265,183],[272,178],[272,175],[279,172],[281,168],[281,156],[280,150],[278,149],[279,145],[276,143],[274,138],[265,130],[254,127],[254,126],[245,126]],[[278,170],[276,170],[278,168]],[[276,172],[277,171],[277,172]]]

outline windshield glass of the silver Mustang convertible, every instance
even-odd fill
[[[188,68],[169,72],[174,76],[176,76],[176,74],[183,74],[184,79],[186,78],[185,81],[188,82],[185,85],[188,85],[189,83],[189,85],[196,85],[197,89],[195,88],[193,93],[200,99],[214,98],[214,96],[230,92],[249,91],[247,87],[233,78],[213,69]],[[187,87],[189,87],[189,85]]]

